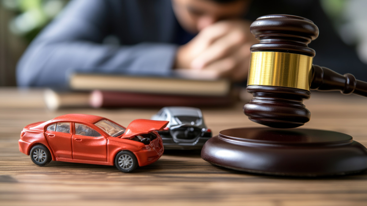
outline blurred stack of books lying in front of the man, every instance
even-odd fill
[[[163,107],[228,106],[233,103],[231,83],[208,76],[171,77],[74,73],[69,86],[73,92],[47,90],[49,109],[63,107]]]

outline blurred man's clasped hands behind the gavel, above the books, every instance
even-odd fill
[[[255,43],[250,22],[217,22],[178,49],[175,68],[211,70],[218,77],[241,81],[247,77],[250,47]]]

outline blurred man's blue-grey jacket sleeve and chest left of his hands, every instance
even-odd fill
[[[18,85],[64,87],[71,72],[168,75],[177,25],[167,0],[73,0],[23,54]]]

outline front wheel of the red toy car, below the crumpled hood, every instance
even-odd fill
[[[117,153],[115,158],[117,169],[123,172],[131,172],[138,166],[138,160],[130,151],[121,151]]]

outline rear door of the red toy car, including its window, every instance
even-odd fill
[[[57,158],[72,159],[70,122],[58,122],[47,127],[45,135]]]

